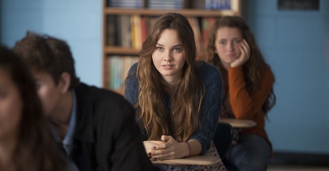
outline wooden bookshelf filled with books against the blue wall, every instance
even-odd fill
[[[152,3],[161,2],[175,2],[176,5],[172,8],[170,5],[160,5],[166,9],[152,6]],[[219,2],[230,2],[229,9],[216,9],[220,7]],[[132,7],[133,4],[137,7]],[[168,12],[181,13],[188,18],[195,33],[196,45],[199,46],[197,53],[202,54],[205,35],[207,35],[204,26],[210,27],[212,23],[209,21],[214,21],[216,17],[240,16],[241,0],[103,0],[102,85],[104,88],[123,94],[125,74],[132,63],[137,62],[145,34],[157,16]],[[117,86],[113,86],[114,82],[118,82]]]

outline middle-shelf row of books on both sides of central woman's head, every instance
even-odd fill
[[[106,45],[141,49],[156,16],[107,15]],[[190,22],[200,55],[208,40],[209,29],[214,17],[187,17]]]

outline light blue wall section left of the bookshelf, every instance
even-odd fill
[[[27,30],[67,41],[82,81],[101,86],[102,1],[1,0],[1,43],[11,48]]]

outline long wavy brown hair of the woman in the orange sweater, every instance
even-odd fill
[[[230,28],[237,28],[243,38],[248,42],[250,46],[250,59],[249,61],[244,65],[243,67],[243,73],[244,73],[244,79],[246,82],[246,89],[249,93],[256,91],[259,89],[259,82],[261,80],[261,72],[264,69],[264,67],[267,67],[270,69],[270,66],[265,62],[263,55],[258,48],[256,41],[254,39],[253,34],[251,33],[248,25],[243,20],[243,18],[239,16],[223,16],[221,18],[218,18],[212,28],[209,31],[209,39],[206,46],[205,51],[205,61],[215,65],[220,69],[223,73],[226,72],[224,69],[221,60],[217,53],[214,53],[215,50],[215,40],[216,40],[216,34],[217,30],[222,27],[230,27]],[[227,75],[223,74],[224,81],[224,87],[228,87],[228,81],[227,81]],[[227,94],[227,88],[225,88],[225,91],[223,94]],[[225,95],[223,100],[225,100]],[[265,103],[262,106],[262,109],[264,113],[266,114],[276,103],[276,96],[273,92],[273,87],[270,90],[269,96]],[[230,104],[227,100],[223,103],[224,112],[231,113]]]

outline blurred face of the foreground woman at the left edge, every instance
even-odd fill
[[[22,117],[22,99],[9,74],[0,68],[0,141],[18,134]]]

